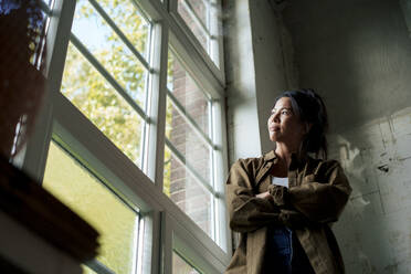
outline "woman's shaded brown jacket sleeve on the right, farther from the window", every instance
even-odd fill
[[[338,161],[323,162],[317,175],[318,181],[313,177],[313,181],[289,188],[288,200],[310,221],[335,222],[348,201],[351,188]]]

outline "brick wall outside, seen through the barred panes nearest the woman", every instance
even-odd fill
[[[179,62],[172,65],[172,93],[199,127],[208,134],[208,102]],[[210,149],[185,118],[172,107],[170,141],[186,157],[186,160],[208,182],[210,176]],[[212,199],[176,157],[171,156],[170,198],[202,230],[211,233]]]

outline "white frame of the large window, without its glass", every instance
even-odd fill
[[[170,1],[172,3],[175,0]],[[190,260],[221,272],[231,259],[231,233],[224,203],[228,154],[223,66],[218,70],[207,53],[202,54],[198,51],[202,49],[201,45],[192,43],[182,31],[176,22],[173,12],[168,9],[168,1],[139,0],[138,4],[154,22],[151,52],[159,53],[151,54],[149,61],[150,99],[146,113],[149,126],[145,133],[147,144],[143,157],[143,170],[60,93],[75,0],[55,1],[53,10],[50,11],[51,21],[46,38],[48,71],[45,72],[48,92],[35,131],[21,156],[23,160],[20,166],[38,181],[42,181],[52,135],[59,135],[70,148],[81,151],[82,160],[88,162],[93,170],[113,183],[116,190],[140,209],[145,221],[145,230],[140,235],[145,242],[144,253],[139,254],[141,273],[171,273],[170,257],[161,256],[160,251],[171,254],[173,246],[186,246],[186,251],[179,250],[186,257],[190,257],[190,254],[186,253],[204,254]],[[214,191],[219,197],[215,211],[219,220],[215,242],[162,193],[169,44],[185,61],[185,67],[200,88],[208,91],[212,102],[211,118],[215,129],[212,131],[215,148],[213,177],[217,182]],[[222,46],[220,49],[222,51]],[[222,54],[219,56],[222,59]],[[169,238],[175,239],[175,242],[168,241]]]

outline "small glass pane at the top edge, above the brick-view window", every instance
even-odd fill
[[[192,12],[190,12],[191,10],[188,8],[188,4],[186,2],[191,4],[191,7],[193,8]],[[192,4],[194,2],[198,2],[198,4]],[[194,12],[197,14],[203,14],[203,15],[200,15],[199,18],[203,27],[205,27],[205,24],[203,23],[205,22],[205,20],[204,21],[201,20],[201,18],[205,17],[205,9],[202,9],[203,6],[200,2],[202,3],[201,0],[196,0],[196,1],[178,0],[177,12],[181,15],[182,20],[185,20],[187,27],[194,34],[194,36],[200,42],[202,48],[204,48],[205,52],[209,52],[208,35],[205,33],[205,30],[201,28],[200,23],[196,21],[193,17]]]

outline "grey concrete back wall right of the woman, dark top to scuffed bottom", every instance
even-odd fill
[[[294,0],[283,18],[354,188],[334,226],[347,273],[411,273],[411,40],[399,1]]]

